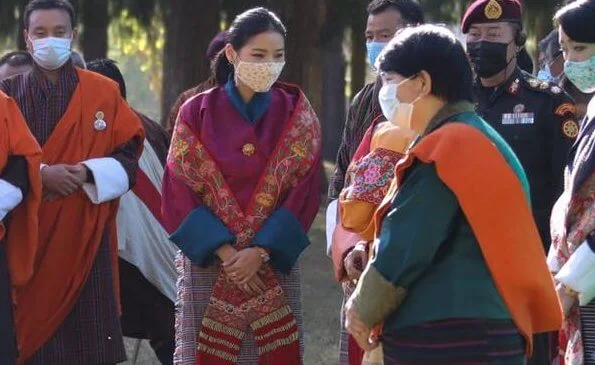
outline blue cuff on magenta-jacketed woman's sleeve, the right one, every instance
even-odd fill
[[[284,274],[289,274],[309,244],[302,225],[285,208],[273,212],[254,237],[254,245],[269,250],[271,265]]]

